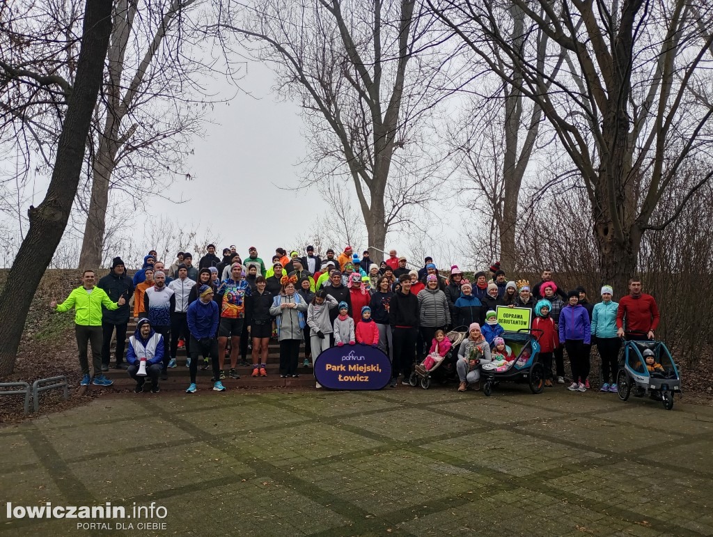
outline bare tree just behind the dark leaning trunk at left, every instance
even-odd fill
[[[86,213],[81,267],[98,267],[102,260],[110,193],[139,200],[161,195],[183,167],[190,136],[200,132],[209,103],[196,79],[209,68],[195,58],[200,46],[186,46],[195,36],[190,15],[197,5],[196,0],[116,2],[95,113],[91,192],[86,201],[80,198]],[[191,94],[203,95],[202,102]]]

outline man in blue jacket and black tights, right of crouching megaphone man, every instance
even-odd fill
[[[210,354],[213,367],[213,389],[216,392],[225,392],[225,387],[220,382],[220,364],[218,363],[218,344],[215,334],[218,330],[218,305],[213,300],[213,288],[210,285],[201,285],[198,290],[198,300],[188,306],[188,330],[190,331],[190,386],[185,391],[195,394],[198,387],[195,385],[195,374],[198,372],[198,354],[203,357]]]

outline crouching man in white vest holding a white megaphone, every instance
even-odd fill
[[[163,336],[151,327],[148,319],[139,319],[133,336],[129,338],[126,361],[127,372],[136,381],[134,392],[143,392],[146,377],[151,378],[151,392],[158,393],[158,376],[163,361]]]

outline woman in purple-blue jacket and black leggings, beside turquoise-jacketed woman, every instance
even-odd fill
[[[567,296],[569,303],[560,312],[560,342],[565,342],[572,367],[572,384],[568,390],[586,392],[584,383],[589,377],[590,363],[585,345],[592,341],[592,328],[587,310],[579,305],[579,292],[572,290]]]

